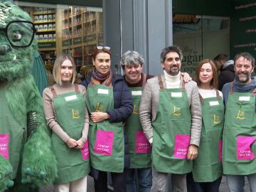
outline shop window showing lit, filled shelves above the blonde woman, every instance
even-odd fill
[[[102,9],[16,1],[33,18],[38,50],[51,70],[60,53],[70,53],[79,72],[92,64],[92,50],[103,44]]]

